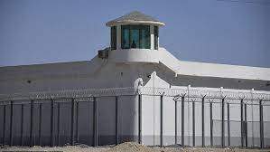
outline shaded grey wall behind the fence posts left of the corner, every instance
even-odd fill
[[[76,99],[75,99],[76,100]],[[119,142],[137,141],[138,138],[138,102],[136,96],[118,97],[118,136]],[[99,97],[98,102],[98,145],[112,145],[116,143],[116,97]],[[31,104],[30,100],[14,101],[13,109],[13,141],[14,145],[22,144],[21,124],[23,116],[23,146],[31,145],[30,124]],[[71,99],[54,100],[53,108],[53,134],[54,145],[70,145],[71,137]],[[78,104],[79,103],[79,104]],[[42,116],[40,119],[40,105],[42,104]],[[78,104],[78,110],[77,110]],[[23,105],[23,115],[22,115]],[[59,111],[58,111],[59,106]],[[10,144],[10,117],[11,105],[0,106],[0,143]],[[58,113],[59,112],[59,113]],[[60,114],[60,115],[59,115]],[[78,115],[77,115],[78,114]],[[5,116],[5,127],[4,127]],[[78,128],[76,122],[78,118]],[[41,144],[39,140],[39,123],[41,127]],[[58,127],[58,123],[60,126]],[[94,133],[94,103],[90,100],[79,100],[74,109],[74,141],[79,144],[93,145]],[[5,130],[4,130],[5,128]],[[60,128],[60,130],[58,130]],[[78,129],[78,142],[77,142]],[[58,131],[60,131],[60,143],[58,143]],[[34,100],[33,105],[33,145],[51,145],[51,100]]]

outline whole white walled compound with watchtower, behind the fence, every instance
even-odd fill
[[[247,67],[226,64],[214,64],[203,62],[184,62],[174,57],[165,48],[159,44],[159,29],[164,24],[151,16],[140,12],[132,12],[121,16],[107,23],[111,29],[111,46],[104,50],[98,51],[98,54],[90,61],[84,62],[61,62],[37,65],[22,65],[12,67],[0,67],[0,94],[3,103],[6,98],[16,96],[16,103],[25,102],[23,135],[25,144],[29,142],[29,129],[31,111],[31,99],[25,100],[23,94],[29,92],[53,93],[60,91],[76,92],[76,90],[96,89],[102,90],[107,88],[132,88],[139,89],[185,89],[194,88],[200,90],[213,91],[263,91],[266,94],[270,90],[270,69],[259,67]],[[19,95],[18,95],[19,94]],[[95,95],[95,94],[93,94]],[[9,99],[10,99],[9,98]],[[164,97],[163,101],[163,144],[174,144],[175,130],[175,109],[173,97]],[[34,100],[33,113],[38,115],[39,105],[42,103],[42,145],[50,145],[50,129],[46,125],[50,124],[50,99]],[[58,104],[61,101],[61,105]],[[116,131],[116,104],[113,102],[115,97],[99,97],[98,102],[98,144],[108,145],[115,142]],[[119,136],[121,141],[138,139],[138,96],[121,96],[119,95],[118,113],[119,113]],[[192,146],[192,100],[187,98],[185,102],[185,145]],[[61,109],[61,140],[60,145],[70,143],[70,119],[72,104],[70,99],[54,99],[55,119],[58,119],[58,106]],[[195,119],[196,119],[196,145],[201,145],[201,101],[196,100]],[[220,102],[220,100],[219,100]],[[181,106],[179,104],[178,106]],[[92,102],[81,102],[79,104],[79,142],[91,145],[93,136],[92,130],[92,111],[94,105]],[[239,106],[230,106],[230,120],[239,121]],[[264,120],[270,121],[270,112],[265,107]],[[179,107],[179,110],[181,108]],[[209,102],[205,106],[205,142],[209,145]],[[1,110],[4,111],[4,106]],[[5,107],[5,127],[1,126],[0,130],[5,128],[6,135],[9,135],[9,112],[10,106]],[[75,110],[77,111],[77,110]],[[249,121],[258,121],[259,114],[256,106],[248,106],[247,119]],[[14,105],[14,122],[21,122],[21,107]],[[214,119],[220,119],[220,104],[213,105]],[[154,95],[143,95],[142,97],[142,141],[146,145],[160,144],[160,97]],[[76,114],[74,114],[76,115]],[[181,143],[181,113],[179,113],[179,137]],[[1,122],[4,118],[1,117]],[[35,122],[39,121],[38,117],[34,118]],[[56,121],[56,120],[55,120]],[[2,123],[0,123],[2,124]],[[55,134],[57,134],[57,123]],[[249,137],[256,137],[256,127],[252,125],[252,131]],[[34,135],[39,134],[38,124],[34,124]],[[74,128],[75,129],[75,128]],[[4,132],[5,132],[4,130]],[[3,131],[1,131],[2,141]],[[267,134],[266,134],[267,133]],[[265,137],[270,138],[269,132]],[[239,132],[238,132],[239,134]],[[20,128],[14,128],[14,145],[20,144]],[[214,135],[219,137],[220,134]],[[239,135],[232,135],[239,137]],[[55,137],[55,140],[57,138]],[[218,140],[218,138],[216,139]],[[236,141],[237,140],[237,141]],[[235,143],[238,143],[238,139]],[[9,137],[5,136],[5,143],[8,143]],[[35,143],[39,139],[35,137]],[[233,141],[233,140],[232,140]],[[251,141],[251,140],[249,140]],[[219,141],[218,141],[219,142]],[[255,141],[256,142],[256,141]],[[27,144],[26,144],[27,145]],[[233,145],[233,144],[232,144]],[[257,143],[253,143],[257,145]],[[270,145],[270,144],[269,144]]]

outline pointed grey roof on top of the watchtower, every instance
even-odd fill
[[[107,26],[114,26],[117,24],[155,24],[158,26],[165,25],[164,23],[154,19],[154,17],[149,16],[147,14],[143,14],[138,11],[131,12],[129,14],[125,14],[115,20],[107,22]]]

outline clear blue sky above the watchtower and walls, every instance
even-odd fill
[[[0,66],[89,61],[135,10],[180,60],[270,68],[270,0],[0,0]]]

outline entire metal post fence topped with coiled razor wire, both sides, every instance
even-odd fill
[[[207,146],[205,144],[205,119],[209,119],[210,122],[210,144],[212,147],[270,147],[269,130],[270,122],[264,120],[264,107],[270,106],[270,92],[259,90],[227,90],[227,89],[212,89],[212,88],[191,88],[179,87],[177,89],[164,89],[164,88],[110,88],[110,89],[88,89],[88,90],[61,90],[61,91],[43,91],[43,92],[29,92],[29,93],[16,93],[16,94],[0,94],[0,106],[3,111],[2,120],[2,138],[1,143],[13,145],[50,145],[61,146],[64,144],[75,145],[80,140],[85,140],[85,144],[90,146],[98,146],[101,141],[98,135],[98,98],[110,97],[115,103],[115,137],[112,138],[110,143],[118,144],[122,142],[119,135],[119,111],[118,108],[119,98],[125,96],[137,97],[138,103],[138,134],[136,140],[142,143],[142,100],[143,96],[159,96],[160,108],[161,108],[161,123],[160,123],[160,146],[163,147],[163,104],[166,104],[168,100],[163,100],[163,97],[172,98],[171,101],[175,103],[175,116],[178,112],[181,112],[181,127],[177,126],[177,118],[175,118],[175,137],[174,144],[187,146],[185,143],[185,116],[184,116],[184,103],[191,102],[195,105],[196,102],[201,104],[201,147]],[[191,99],[191,100],[187,100]],[[124,101],[124,100],[123,100]],[[64,105],[66,104],[66,105]],[[177,105],[181,104],[181,109],[177,108]],[[205,106],[209,105],[209,118],[205,115]],[[220,105],[221,119],[213,119],[213,104]],[[240,120],[230,120],[229,106],[240,106]],[[18,105],[21,109],[20,118],[14,116],[14,106]],[[91,111],[92,114],[88,116],[88,135],[83,137],[83,133],[79,134],[79,105],[81,107],[88,106],[86,111]],[[259,111],[259,121],[250,121],[247,119],[247,113],[249,112],[248,106],[257,106]],[[46,107],[46,108],[44,108]],[[195,111],[195,106],[192,106],[192,111]],[[227,108],[227,109],[225,109]],[[16,109],[19,109],[18,107]],[[25,114],[25,109],[30,111]],[[61,133],[61,126],[64,124],[61,119],[61,111],[63,109],[69,110],[70,117],[65,123],[70,124],[70,127],[66,130],[62,130],[66,133]],[[44,116],[44,110],[50,110],[49,116]],[[252,109],[253,110],[253,109]],[[227,116],[225,116],[227,111]],[[195,112],[194,112],[195,113]],[[64,114],[62,114],[64,115]],[[193,114],[194,115],[194,114]],[[25,125],[23,119],[29,117],[29,126]],[[91,117],[91,118],[90,118]],[[50,118],[50,120],[48,120]],[[20,119],[20,125],[14,124],[14,119]],[[50,126],[48,128],[42,128],[44,119],[47,119]],[[195,116],[192,116],[192,121],[195,122]],[[256,125],[255,125],[256,124]],[[14,126],[20,126],[17,129],[16,136],[14,136]],[[235,127],[234,127],[235,126]],[[8,127],[8,128],[7,128]],[[28,131],[24,131],[29,128]],[[181,128],[181,135],[178,135],[178,128]],[[256,136],[250,136],[248,132],[250,129],[259,130],[256,132]],[[50,132],[50,136],[44,137],[42,133],[46,129]],[[231,132],[240,132],[240,137],[232,138]],[[46,132],[45,131],[45,132]],[[18,133],[19,132],[19,133]],[[252,131],[253,132],[253,131]],[[19,134],[17,136],[17,134]],[[27,134],[27,137],[25,138]],[[67,135],[64,135],[67,134]],[[215,136],[219,134],[219,136]],[[253,134],[253,133],[252,133]],[[258,135],[257,135],[258,134]],[[267,135],[267,136],[265,136]],[[82,139],[82,137],[84,139]],[[179,137],[181,137],[179,141]],[[254,138],[256,137],[256,139]],[[61,141],[61,138],[65,138]],[[87,139],[89,138],[89,139]],[[120,141],[121,140],[121,141]],[[192,145],[195,146],[195,127],[192,125]],[[237,144],[235,144],[237,143]],[[198,145],[198,144],[197,144]]]

